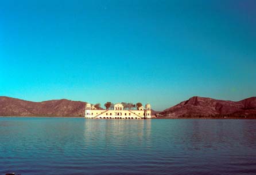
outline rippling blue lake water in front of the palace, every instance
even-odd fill
[[[256,174],[256,120],[0,118],[0,174]]]

